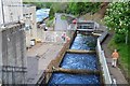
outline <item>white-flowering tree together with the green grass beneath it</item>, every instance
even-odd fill
[[[117,48],[120,58],[120,67],[126,73],[126,77],[130,80],[130,63],[128,52],[130,51],[130,45],[128,42],[129,38],[129,26],[130,26],[130,2],[115,2],[109,3],[106,15],[104,17],[105,25],[107,25],[112,30],[115,30],[115,35],[108,44],[110,49]]]

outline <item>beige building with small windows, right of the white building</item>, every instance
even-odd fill
[[[37,39],[36,6],[30,4],[24,4],[23,13],[23,19],[26,25],[26,46],[29,47],[30,40]]]

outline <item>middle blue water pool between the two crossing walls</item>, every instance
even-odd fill
[[[98,58],[95,54],[66,53],[61,63],[61,68],[98,70]]]

